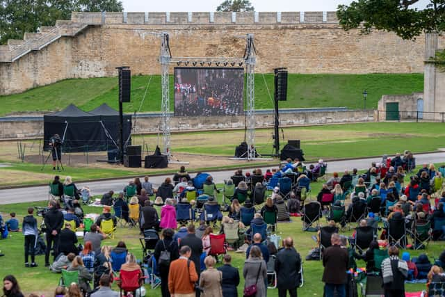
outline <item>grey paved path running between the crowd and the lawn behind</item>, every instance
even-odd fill
[[[343,161],[331,161],[327,163],[328,172],[343,172],[346,168],[352,169],[367,169],[371,162],[380,162],[381,158],[367,158],[357,160],[343,160]],[[431,154],[418,154],[416,155],[416,163],[438,163],[445,161],[445,152],[437,152]],[[270,166],[268,167],[270,168]],[[261,168],[266,172],[266,168]],[[246,171],[246,170],[245,170]],[[224,179],[228,179],[233,175],[234,170],[209,172],[216,183],[222,183]],[[157,188],[159,184],[163,182],[165,177],[172,177],[172,175],[161,175],[156,177],[150,177],[150,182]],[[75,181],[74,181],[75,182]],[[124,186],[129,182],[129,179],[113,179],[108,181],[88,182],[76,184],[78,188],[82,186],[89,186],[92,191],[92,195],[99,195],[113,190],[115,192],[122,191]],[[26,188],[13,188],[0,190],[0,204],[9,204],[17,202],[33,202],[42,201],[48,199],[48,186],[33,186]]]

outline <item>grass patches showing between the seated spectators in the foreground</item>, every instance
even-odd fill
[[[318,193],[321,188],[321,184],[322,182],[311,184],[312,195],[316,195],[316,193]],[[218,185],[218,187],[220,186],[221,185]],[[19,220],[21,221],[22,216],[25,214],[26,207],[44,205],[45,202],[6,204],[1,206],[1,215],[3,216],[3,219],[6,220],[8,218],[8,214],[11,211],[15,211],[19,217]],[[98,213],[102,210],[97,207],[84,207],[83,209],[86,213]],[[38,218],[38,220],[40,222],[41,218]],[[321,223],[322,225],[325,225],[325,218],[321,219]],[[301,227],[302,223],[300,218],[292,218],[291,223],[279,224],[277,234],[282,236],[282,238],[284,238],[284,236],[293,236],[293,239],[296,242],[296,248],[298,252],[300,252],[300,255],[304,258],[309,250],[316,246],[316,243],[311,239],[311,236],[315,233],[302,232]],[[350,235],[350,232],[346,232],[344,234]],[[135,253],[138,259],[140,259],[142,257],[142,252],[138,238],[139,235],[137,230],[118,228],[116,238],[114,240],[107,239],[103,244],[115,246],[118,241],[124,240],[127,243],[127,247],[129,248],[130,252]],[[56,284],[58,283],[60,275],[51,273],[47,268],[43,267],[43,255],[37,257],[37,262],[40,264],[38,268],[24,268],[23,241],[23,236],[19,233],[12,233],[10,238],[0,241],[1,250],[6,254],[5,257],[0,257],[0,278],[3,278],[4,275],[12,273],[18,278],[20,286],[24,290],[24,293],[26,293],[25,296],[31,292],[38,293],[39,295],[44,294],[45,296],[51,296],[51,293],[54,291]],[[438,257],[443,248],[444,245],[441,242],[430,242],[428,250],[411,251],[411,255],[419,255],[422,252],[426,252],[428,257],[432,259],[432,257]],[[236,254],[235,252],[231,252],[231,254],[234,259],[234,266],[242,271],[243,263],[245,261],[244,255]],[[365,266],[364,262],[362,261],[357,262],[357,265],[359,267]],[[302,289],[298,290],[298,295],[304,297],[322,296],[323,283],[321,282],[321,275],[323,273],[323,266],[321,262],[305,261],[304,271],[305,285],[302,287]],[[116,289],[115,286],[113,287]],[[147,296],[161,296],[160,289],[152,291],[149,289],[149,286],[146,286],[146,288]],[[242,294],[242,288],[243,280],[238,287],[239,294]],[[425,284],[406,285],[407,291],[421,291],[424,288]],[[277,296],[277,290],[269,289],[268,296]]]

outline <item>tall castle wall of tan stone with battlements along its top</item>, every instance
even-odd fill
[[[0,47],[0,95],[61,79],[115,76],[121,65],[133,74],[159,74],[160,38],[153,33],[163,31],[170,34],[172,56],[188,57],[242,57],[245,35],[253,33],[255,71],[262,73],[274,67],[292,73],[423,72],[425,49],[423,35],[406,41],[383,31],[343,31],[333,12],[213,13],[213,22],[211,13],[192,13],[191,19],[189,13],[72,13],[72,22],[58,22],[56,29],[61,38],[12,62],[5,61],[13,51]]]

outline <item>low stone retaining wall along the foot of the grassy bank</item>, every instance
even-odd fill
[[[273,127],[273,113],[255,116],[257,128]],[[320,125],[344,122],[373,122],[373,111],[319,111],[280,114],[280,125],[291,127],[298,125]],[[135,134],[149,134],[159,132],[160,117],[138,117]],[[215,117],[172,117],[170,118],[172,131],[199,131],[209,129],[243,129],[244,116],[215,116]],[[6,120],[0,121],[0,139],[6,138],[41,138],[43,136],[43,119],[35,120]]]

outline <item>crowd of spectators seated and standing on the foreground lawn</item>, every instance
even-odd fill
[[[235,238],[227,240],[227,250],[245,252],[243,295],[266,296],[268,284],[273,282],[268,272],[273,271],[277,275],[275,284],[278,294],[284,297],[287,292],[290,296],[297,295],[302,280],[302,259],[292,237],[286,237],[280,246],[268,235],[276,231],[278,222],[289,221],[293,216],[302,216],[303,223],[307,223],[306,207],[316,203],[320,205],[321,216],[325,214],[330,220],[327,227],[332,227],[330,243],[320,251],[325,269],[322,277],[325,296],[334,296],[334,291],[337,291],[337,296],[346,296],[350,278],[346,271],[354,267],[351,263],[355,259],[364,259],[366,270],[374,271],[377,268],[373,262],[375,250],[382,248],[373,236],[366,252],[355,252],[354,240],[359,236],[360,227],[371,226],[377,234],[380,229],[378,223],[382,221],[380,239],[391,243],[388,224],[392,219],[403,218],[403,223],[409,228],[419,222],[434,223],[435,218],[445,220],[445,192],[439,192],[443,184],[442,173],[435,170],[432,164],[424,164],[405,185],[405,170],[412,170],[409,167],[411,161],[400,161],[400,166],[394,168],[392,164],[398,164],[398,157],[396,155],[394,161],[384,156],[382,163],[372,163],[364,174],[353,169],[352,174],[345,170],[340,177],[334,172],[323,183],[316,201],[312,201],[308,193],[311,182],[325,174],[327,164],[323,160],[313,166],[305,166],[298,159],[288,159],[280,168],[266,172],[259,168],[251,173],[236,170],[223,189],[217,188],[211,175],[198,173],[192,179],[181,167],[172,179],[166,178],[158,188],[149,182],[149,177],[144,177],[143,182],[136,177],[124,186],[117,197],[114,197],[113,191],[104,193],[100,199],[102,214],[94,220],[83,214],[80,196],[67,198],[67,195],[60,195],[54,196],[48,207],[40,211],[44,216],[42,225],[38,225],[33,207],[27,209],[28,215],[23,218],[22,228],[14,213],[10,214],[5,225],[9,232],[22,231],[24,234],[25,267],[38,266],[34,248],[40,232],[43,232],[47,242],[44,266],[54,273],[77,272],[77,284],[57,287],[55,296],[117,296],[118,293],[111,290],[113,273],[120,272],[122,275],[122,271],[136,271],[140,278],[138,286],[143,286],[143,263],[154,267],[152,273],[159,276],[163,297],[237,296],[241,277],[238,268],[232,266],[231,255],[223,255],[223,266],[216,267],[216,257],[211,252],[212,236],[225,234],[228,239],[230,232],[236,230]],[[274,179],[279,183],[273,184]],[[283,186],[287,182],[290,186]],[[52,184],[62,184],[59,193],[64,193],[67,187],[74,188],[74,193],[80,192],[69,177],[65,183],[55,177]],[[268,188],[272,190],[269,196]],[[218,200],[219,191],[223,191],[222,201]],[[345,204],[346,195],[351,200],[348,206]],[[430,204],[432,199],[435,202]],[[359,218],[355,213],[357,205],[364,209]],[[179,218],[179,209],[183,207],[190,217]],[[343,209],[344,213],[339,220],[332,218],[336,207]],[[216,209],[214,216],[208,216],[207,209]],[[247,216],[246,220],[245,214],[252,216]],[[273,222],[270,222],[268,214],[275,214]],[[191,223],[194,220],[200,222],[199,227]],[[345,236],[338,234],[336,224],[344,227],[347,223],[355,222],[358,223],[357,233],[354,232],[349,238],[348,247],[344,242]],[[124,241],[119,241],[115,247],[104,245],[104,240],[114,236],[120,223],[138,227],[140,234],[145,234],[147,230],[161,234],[153,252],[138,262]],[[264,233],[258,229],[263,225],[266,226]],[[323,241],[323,228],[317,229],[318,243]],[[76,234],[79,230],[83,231],[82,245],[78,242],[79,234]],[[442,228],[435,228],[434,239],[442,239],[444,231],[445,224]],[[445,280],[442,270],[445,252],[437,265],[422,267],[421,257],[411,259],[406,252],[403,252],[403,257],[398,257],[399,248],[406,248],[406,244],[401,241],[392,243],[387,250],[389,257],[378,267],[387,296],[402,296],[400,294],[404,291],[404,281],[409,278],[408,273],[416,278],[421,270],[428,283],[442,281],[442,278]],[[416,249],[426,248],[416,246],[416,241],[413,244]],[[51,253],[52,263],[49,259]],[[117,281],[120,284],[120,280]],[[3,279],[3,293],[8,297],[23,296],[13,275]]]

